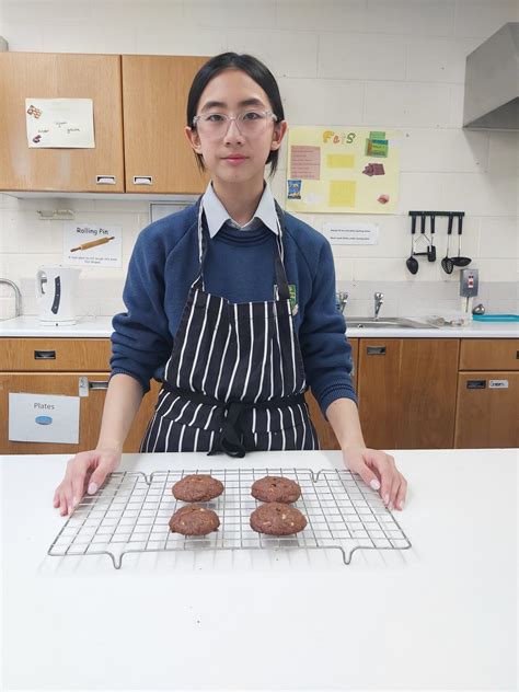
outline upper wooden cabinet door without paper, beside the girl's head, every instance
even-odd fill
[[[205,191],[185,137],[186,103],[205,57],[123,56],[126,192]]]

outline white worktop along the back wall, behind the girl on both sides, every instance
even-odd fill
[[[354,318],[351,318],[354,319]],[[42,337],[97,337],[107,338],[112,334],[112,318],[79,318],[77,324],[70,326],[42,326],[36,315],[12,318],[0,322],[0,337],[2,336],[42,336]],[[351,338],[373,337],[408,337],[408,338],[514,338],[519,337],[517,322],[471,322],[469,326],[440,328],[348,328]]]

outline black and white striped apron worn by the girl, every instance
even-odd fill
[[[231,303],[205,290],[209,234],[198,211],[200,268],[192,284],[141,452],[319,449],[304,391],[282,264],[282,211],[274,256],[277,298]]]

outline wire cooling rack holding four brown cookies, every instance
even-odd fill
[[[169,521],[185,503],[171,492],[174,483],[191,473],[209,473],[220,480],[220,497],[199,503],[220,518],[218,531],[200,537],[172,533]],[[301,486],[293,503],[308,519],[295,535],[256,533],[249,523],[261,504],[251,495],[254,481],[281,475]],[[307,469],[226,469],[115,472],[94,496],[85,496],[48,550],[48,555],[109,555],[119,569],[127,553],[177,550],[338,549],[349,564],[358,549],[405,550],[411,542],[385,508],[378,493],[350,471]]]

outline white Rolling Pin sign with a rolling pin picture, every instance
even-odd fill
[[[122,267],[122,227],[68,223],[64,232],[64,262],[68,265]]]

